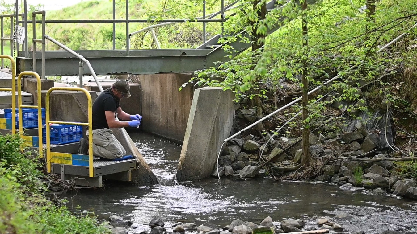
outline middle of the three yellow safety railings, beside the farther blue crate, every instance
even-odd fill
[[[26,106],[22,105],[22,76],[31,75],[36,77],[38,83],[38,105]],[[23,113],[22,108],[38,108],[38,137],[39,137],[39,157],[43,157],[43,145],[42,145],[42,93],[41,93],[41,81],[38,73],[36,72],[21,72],[18,76],[18,109],[19,109],[19,134],[23,138]]]

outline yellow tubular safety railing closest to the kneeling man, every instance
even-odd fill
[[[60,122],[60,121],[51,121],[50,120],[50,110],[49,110],[49,98],[50,93],[55,90],[68,90],[68,91],[80,91],[84,92],[87,96],[88,100],[88,123],[77,123],[77,122]],[[93,174],[93,115],[92,115],[92,102],[91,102],[91,95],[90,93],[80,87],[52,87],[46,93],[46,169],[48,173],[51,172],[51,158],[50,158],[50,127],[49,124],[73,124],[73,125],[81,125],[81,126],[88,126],[88,169],[90,177],[94,177]]]

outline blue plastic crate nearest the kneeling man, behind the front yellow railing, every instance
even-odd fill
[[[78,142],[83,137],[83,127],[79,125],[60,124],[50,127],[50,144],[67,144]],[[42,126],[43,143],[46,144],[46,128]]]

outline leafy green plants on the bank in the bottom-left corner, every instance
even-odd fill
[[[91,214],[74,215],[67,207],[44,197],[37,157],[20,152],[18,135],[0,136],[0,233],[4,234],[106,234]]]

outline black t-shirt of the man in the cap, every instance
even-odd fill
[[[118,107],[120,107],[119,101],[114,97],[111,88],[100,93],[93,103],[93,130],[109,128],[105,111],[117,112]]]

